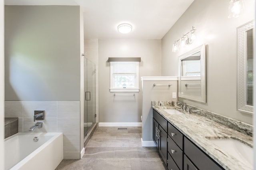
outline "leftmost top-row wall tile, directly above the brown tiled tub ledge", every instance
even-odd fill
[[[22,101],[5,101],[4,102],[4,117],[22,118]]]

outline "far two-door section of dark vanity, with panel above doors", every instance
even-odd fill
[[[153,110],[153,140],[167,166],[167,121]]]

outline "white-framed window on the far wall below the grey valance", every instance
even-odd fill
[[[139,91],[139,62],[110,62],[110,92]]]

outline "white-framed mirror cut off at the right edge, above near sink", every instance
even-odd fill
[[[245,113],[253,113],[253,29],[252,21],[237,28],[237,105]]]

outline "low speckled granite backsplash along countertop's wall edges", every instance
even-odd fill
[[[179,101],[152,101],[152,106],[176,106],[178,107]],[[187,105],[191,107],[191,113],[200,115],[202,117],[205,117],[207,119],[210,119],[212,121],[215,121],[217,123],[220,123],[221,125],[224,125],[226,127],[232,128],[238,132],[242,132],[246,135],[252,136],[253,132],[253,126],[249,125],[247,123],[243,123],[241,121],[237,121],[235,119],[231,119],[229,117],[224,117],[222,115],[206,111],[204,109],[194,107],[192,105]]]

